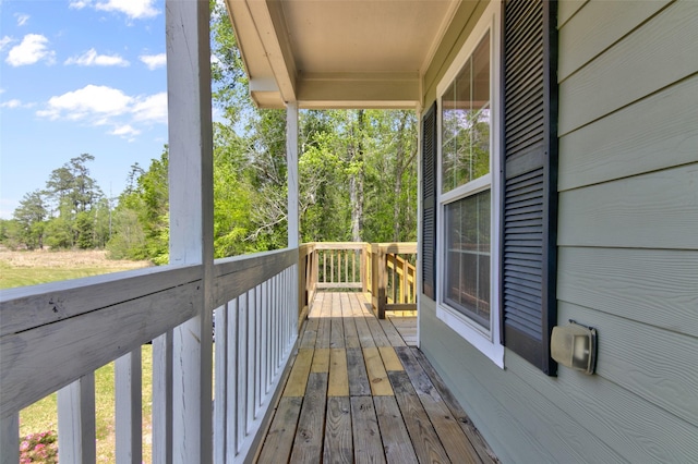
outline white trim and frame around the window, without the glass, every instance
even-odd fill
[[[436,95],[438,98],[438,115],[436,119],[437,127],[437,167],[436,170],[436,188],[437,188],[437,212],[436,212],[436,230],[438,231],[438,240],[436,241],[436,317],[450,327],[456,333],[462,337],[471,345],[488,356],[498,367],[504,368],[504,346],[502,345],[502,334],[500,329],[500,212],[501,212],[501,194],[500,194],[500,134],[502,133],[501,115],[500,115],[500,98],[501,88],[498,85],[502,70],[500,69],[500,15],[501,4],[498,1],[490,2],[490,5],[482,14],[478,24],[469,35],[458,56],[444,74],[444,77],[436,86]],[[444,277],[445,277],[445,249],[444,249],[444,209],[445,205],[454,199],[460,198],[464,193],[464,186],[457,187],[446,194],[442,194],[442,97],[448,89],[449,85],[456,78],[461,68],[473,53],[476,47],[482,39],[483,35],[490,30],[490,110],[491,110],[491,130],[490,130],[490,174],[483,175],[468,184],[465,190],[474,194],[477,191],[491,188],[492,215],[490,223],[491,233],[491,251],[490,251],[490,330],[486,331],[480,325],[476,323],[467,316],[462,315],[455,308],[448,306],[444,302]]]

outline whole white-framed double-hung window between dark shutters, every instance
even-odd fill
[[[498,319],[498,17],[492,2],[437,86],[436,315],[503,367]]]

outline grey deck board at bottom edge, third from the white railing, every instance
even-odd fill
[[[352,462],[351,402],[348,396],[328,398],[323,463]]]

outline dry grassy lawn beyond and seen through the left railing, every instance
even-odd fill
[[[148,266],[144,261],[112,261],[106,253],[8,252],[0,251],[0,289],[76,279]],[[152,431],[152,345],[141,350],[143,362],[143,461],[151,460]],[[95,422],[97,462],[115,462],[113,363],[95,371]],[[20,436],[58,430],[57,394],[50,394],[20,413]],[[60,455],[60,452],[59,452]]]

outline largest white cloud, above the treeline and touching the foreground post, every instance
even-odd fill
[[[108,126],[108,134],[134,139],[143,126],[167,124],[167,93],[129,96],[118,88],[87,85],[51,97],[36,115]]]

